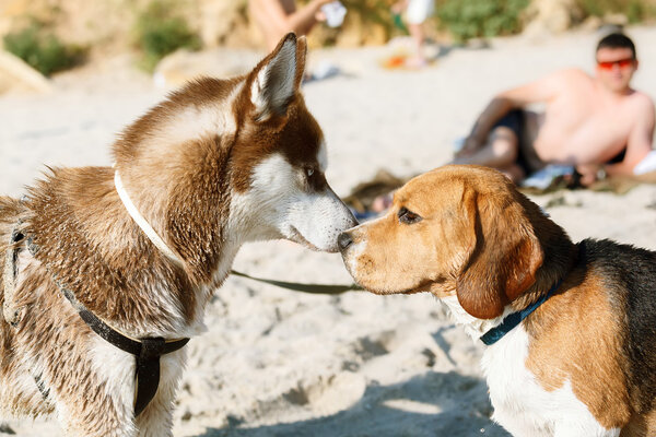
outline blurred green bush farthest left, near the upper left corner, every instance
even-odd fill
[[[45,75],[69,69],[84,56],[81,47],[63,44],[47,26],[33,21],[21,31],[4,35],[4,49]]]

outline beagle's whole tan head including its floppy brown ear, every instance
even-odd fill
[[[493,318],[542,262],[531,214],[542,215],[500,173],[445,166],[401,187],[385,216],[347,231],[339,246],[373,293],[456,293],[472,316]]]

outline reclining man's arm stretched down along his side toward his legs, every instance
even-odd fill
[[[572,74],[583,73],[578,70],[558,71],[494,96],[473,123],[471,132],[465,141],[465,146],[458,155],[467,155],[481,147],[488,140],[494,123],[512,109],[532,103],[548,103],[551,101],[558,94],[563,81],[567,81]]]

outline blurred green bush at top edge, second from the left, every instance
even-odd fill
[[[141,66],[152,71],[166,55],[178,48],[197,50],[200,38],[187,21],[175,12],[175,2],[154,0],[139,14],[136,24],[137,46],[143,52]]]

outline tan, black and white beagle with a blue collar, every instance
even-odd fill
[[[376,294],[430,292],[475,341],[513,436],[656,436],[656,252],[574,244],[501,173],[445,166],[339,237]]]

